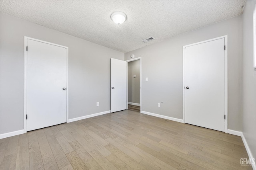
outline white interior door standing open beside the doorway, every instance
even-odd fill
[[[110,59],[111,113],[127,109],[127,62]]]

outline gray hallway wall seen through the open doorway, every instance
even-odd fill
[[[128,62],[128,102],[140,103],[140,60]]]

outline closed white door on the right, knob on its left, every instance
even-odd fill
[[[225,129],[225,39],[185,49],[185,123]]]

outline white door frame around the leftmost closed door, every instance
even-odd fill
[[[24,36],[24,133],[27,132],[26,115],[27,115],[27,62],[28,62],[28,57],[27,57],[27,42],[28,41],[27,40],[28,39],[38,41],[38,42],[41,42],[41,43],[55,45],[55,46],[58,46],[58,47],[63,47],[63,48],[67,49],[67,88],[66,88],[66,90],[67,90],[67,106],[66,106],[67,107],[66,108],[67,109],[67,116],[66,117],[67,117],[67,123],[68,123],[68,89],[69,89],[68,88],[68,47]]]

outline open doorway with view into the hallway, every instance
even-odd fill
[[[127,107],[141,112],[141,57],[127,61]]]

